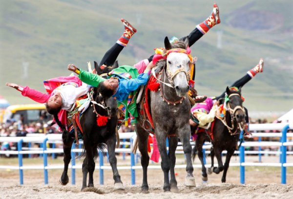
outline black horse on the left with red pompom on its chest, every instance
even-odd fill
[[[103,150],[103,144],[106,144],[109,162],[113,171],[114,188],[123,189],[123,183],[117,170],[117,159],[115,156],[116,145],[116,126],[117,126],[117,101],[111,98],[103,98],[99,95],[97,88],[93,89],[92,105],[87,108],[80,119],[80,124],[84,132],[84,149],[86,157],[83,162],[83,185],[86,187],[87,173],[89,175],[87,187],[93,187],[93,172],[95,170],[95,159],[98,156],[97,148]],[[107,116],[108,120],[104,126],[97,125],[97,117]],[[63,151],[64,151],[64,169],[60,183],[68,183],[68,164],[71,159],[71,146],[74,138],[63,131]]]

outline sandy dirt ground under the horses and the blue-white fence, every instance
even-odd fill
[[[25,160],[23,165],[38,165],[42,159]],[[263,157],[263,162],[278,162],[279,157],[269,156]],[[39,161],[39,163],[38,163]],[[209,163],[209,159],[207,159]],[[256,162],[257,156],[246,158],[246,161]],[[127,165],[129,157],[122,160],[118,157],[119,166]],[[177,164],[184,163],[184,159],[177,159]],[[239,162],[239,158],[233,156],[231,162]],[[287,162],[293,162],[293,157],[288,157]],[[17,159],[0,159],[0,165],[17,165]],[[81,164],[82,160],[77,160],[77,164]],[[62,164],[62,158],[57,160],[49,160],[49,164]],[[98,164],[98,163],[96,163]],[[195,164],[199,164],[196,159]],[[105,163],[105,165],[107,165]],[[140,165],[138,163],[137,165]],[[82,171],[76,170],[76,184],[71,184],[71,171],[69,169],[69,183],[62,186],[58,183],[62,170],[49,170],[49,184],[44,185],[43,170],[24,170],[24,185],[20,184],[18,170],[0,170],[0,196],[1,199],[56,199],[57,198],[72,198],[79,199],[102,198],[116,199],[121,197],[129,197],[132,199],[196,199],[205,197],[207,199],[214,198],[233,198],[233,199],[263,199],[265,198],[282,198],[291,199],[293,195],[293,168],[287,168],[287,184],[282,185],[281,169],[279,167],[246,167],[245,185],[240,184],[239,167],[230,167],[227,174],[227,183],[221,183],[222,174],[209,175],[209,182],[202,183],[201,169],[195,168],[193,171],[196,187],[184,186],[186,176],[185,169],[175,169],[176,179],[180,193],[164,192],[163,190],[163,172],[161,169],[148,170],[149,194],[140,193],[140,184],[142,183],[142,170],[136,170],[136,185],[131,185],[130,170],[119,170],[121,179],[124,182],[125,190],[114,190],[112,171],[104,171],[104,185],[99,185],[99,171],[94,173],[95,188],[87,189],[81,192]]]

